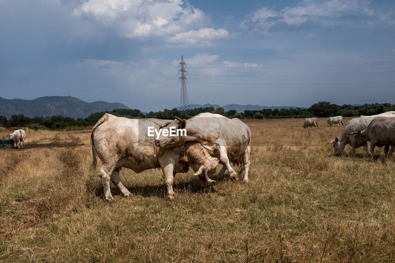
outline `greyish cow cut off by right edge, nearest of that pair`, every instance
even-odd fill
[[[388,150],[391,146],[389,156],[392,156],[392,152],[395,146],[395,118],[392,117],[377,117],[371,121],[365,130],[354,131],[350,135],[354,135],[355,147],[360,147],[366,144],[367,141],[371,142],[370,151],[374,159],[378,157],[374,153],[374,147],[384,147],[385,157],[388,156]]]

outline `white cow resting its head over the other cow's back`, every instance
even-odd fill
[[[156,146],[174,147],[187,141],[197,141],[211,156],[220,158],[221,164],[224,165],[217,178],[222,178],[228,169],[231,180],[238,180],[239,177],[229,162],[237,165],[241,163],[245,171],[243,182],[248,182],[251,130],[241,120],[229,119],[219,114],[200,113],[188,120],[176,117],[164,130],[169,131],[169,127],[185,129],[186,135],[166,137],[162,133],[155,140]]]

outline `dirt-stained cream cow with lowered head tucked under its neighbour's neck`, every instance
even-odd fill
[[[162,168],[167,184],[169,199],[174,199],[173,180],[176,173],[186,173],[189,166],[196,172],[201,185],[211,188],[215,182],[209,178],[219,163],[196,142],[173,148],[158,148],[155,137],[148,136],[148,127],[158,129],[166,126],[169,120],[128,119],[104,114],[93,126],[90,136],[90,166],[96,167],[96,154],[102,161],[99,176],[102,180],[104,197],[113,201],[110,192],[110,180],[124,196],[130,196],[120,182],[119,171],[122,167],[140,173],[147,169]]]

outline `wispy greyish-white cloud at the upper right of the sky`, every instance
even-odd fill
[[[268,34],[322,25],[361,26],[361,17],[371,17],[374,14],[371,1],[368,0],[303,0],[295,7],[285,7],[278,12],[269,7],[260,8],[250,13],[241,23],[241,27]],[[366,21],[362,26],[368,24],[369,21]]]

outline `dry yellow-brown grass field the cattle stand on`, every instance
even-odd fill
[[[326,143],[342,126],[324,118],[309,129],[302,119],[245,122],[250,182],[205,193],[191,171],[177,174],[175,201],[159,169],[123,169],[134,195],[112,185],[107,203],[88,171],[90,130],[26,130],[24,150],[0,149],[0,261],[395,261],[395,164],[384,147],[378,161],[363,148],[352,158],[349,145],[335,157]]]

